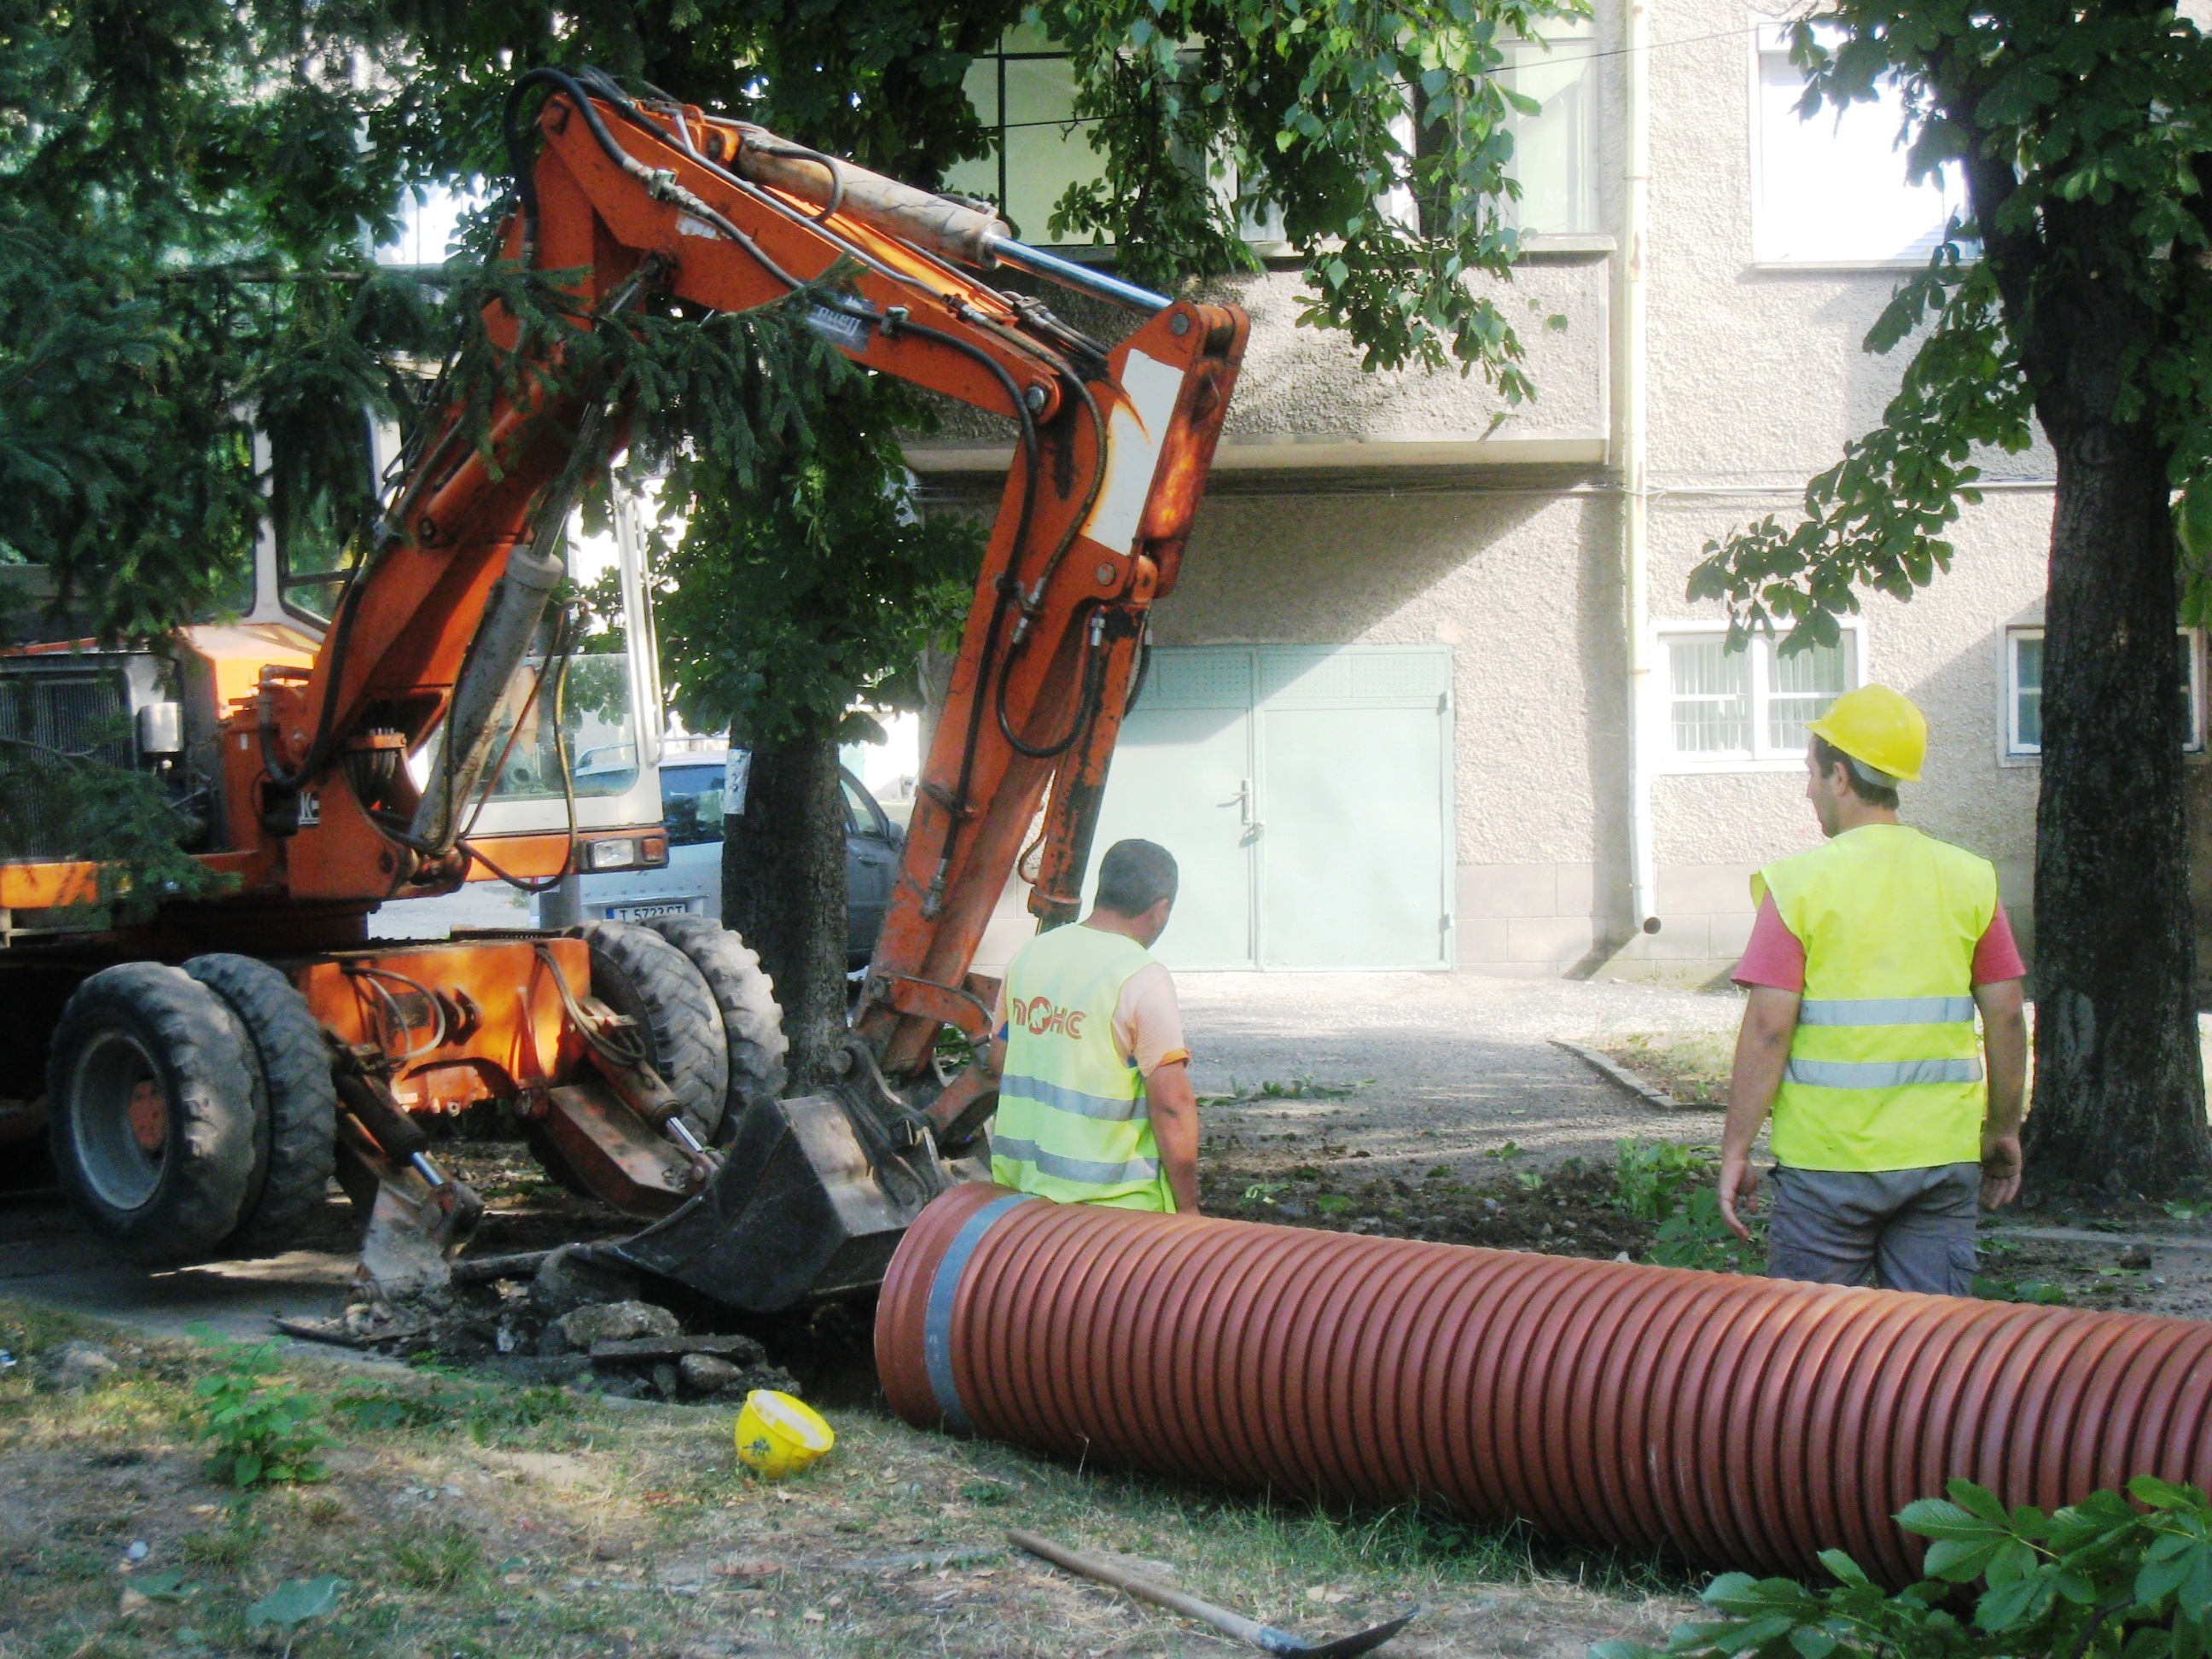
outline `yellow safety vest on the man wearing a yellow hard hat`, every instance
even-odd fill
[[[1982,1157],[1973,949],[1997,872],[1898,823],[1845,830],[1752,876],[1805,945],[1774,1157],[1801,1170],[1918,1170]]]

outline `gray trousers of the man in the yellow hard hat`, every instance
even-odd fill
[[[1973,1294],[1980,1164],[1927,1170],[1774,1170],[1767,1279]]]

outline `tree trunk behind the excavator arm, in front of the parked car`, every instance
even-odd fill
[[[836,737],[754,743],[721,843],[721,916],[776,982],[790,1088],[821,1088],[845,1040],[845,794]]]

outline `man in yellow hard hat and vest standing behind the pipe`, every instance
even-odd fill
[[[1827,843],[1752,876],[1721,1217],[1750,1239],[1772,1110],[1774,1279],[1971,1296],[1978,1206],[2020,1192],[2026,967],[1995,867],[1898,823],[1898,783],[1927,757],[1920,710],[1863,686],[1809,730]]]

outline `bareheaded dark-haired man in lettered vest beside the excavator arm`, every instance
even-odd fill
[[[1097,902],[1029,940],[1000,987],[991,1179],[1060,1203],[1199,1212],[1199,1102],[1175,982],[1152,942],[1175,858],[1117,841]]]

